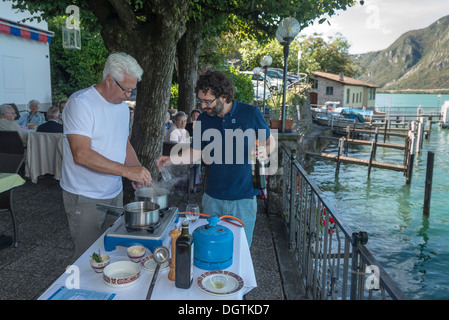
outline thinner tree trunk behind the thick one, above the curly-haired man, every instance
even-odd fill
[[[178,42],[178,110],[184,111],[190,116],[195,108],[195,86],[198,73],[198,58],[202,47],[201,22],[189,20],[186,25],[186,33]]]

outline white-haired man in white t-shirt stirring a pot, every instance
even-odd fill
[[[151,183],[150,172],[140,165],[128,140],[125,100],[142,73],[133,57],[113,53],[101,83],[75,92],[64,108],[61,187],[75,257],[116,218],[97,210],[96,204],[123,206],[122,177],[132,181],[134,188]]]

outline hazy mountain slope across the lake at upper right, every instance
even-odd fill
[[[384,90],[449,89],[449,16],[354,60],[364,70],[359,79]]]

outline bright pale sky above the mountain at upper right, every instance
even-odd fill
[[[317,32],[327,38],[340,32],[351,45],[349,53],[366,53],[386,49],[405,32],[426,28],[446,15],[449,0],[365,0],[364,5],[357,1],[330,17],[330,26],[315,22],[300,34]]]

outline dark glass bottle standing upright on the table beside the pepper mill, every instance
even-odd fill
[[[182,223],[181,235],[176,239],[175,286],[189,289],[193,281],[193,238],[189,222]]]

